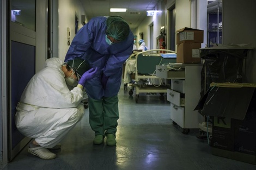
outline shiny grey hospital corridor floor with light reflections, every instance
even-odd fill
[[[211,154],[207,140],[199,140],[198,130],[182,134],[170,119],[170,106],[159,95],[135,95],[121,87],[117,146],[93,145],[94,132],[88,123],[88,109],[81,122],[65,137],[57,158],[42,160],[27,147],[4,170],[88,169],[88,170],[255,170],[256,166]]]

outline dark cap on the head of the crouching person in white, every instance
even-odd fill
[[[72,70],[74,70],[80,77],[90,69],[90,66],[86,60],[77,58],[74,60],[69,60],[68,65]]]

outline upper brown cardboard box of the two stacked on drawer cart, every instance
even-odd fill
[[[193,28],[182,28],[176,31],[176,44],[180,43],[203,43],[204,30]]]

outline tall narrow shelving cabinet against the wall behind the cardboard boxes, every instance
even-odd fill
[[[207,5],[208,14],[208,47],[222,43],[222,0]]]

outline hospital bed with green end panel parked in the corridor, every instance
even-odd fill
[[[160,93],[160,98],[167,92],[168,84],[155,75],[156,66],[176,62],[176,52],[168,49],[151,49],[145,52],[132,54],[126,61],[125,76],[135,74],[135,79],[130,77],[131,90],[129,95],[136,91],[136,103],[139,93]],[[124,83],[128,83],[124,78]]]

